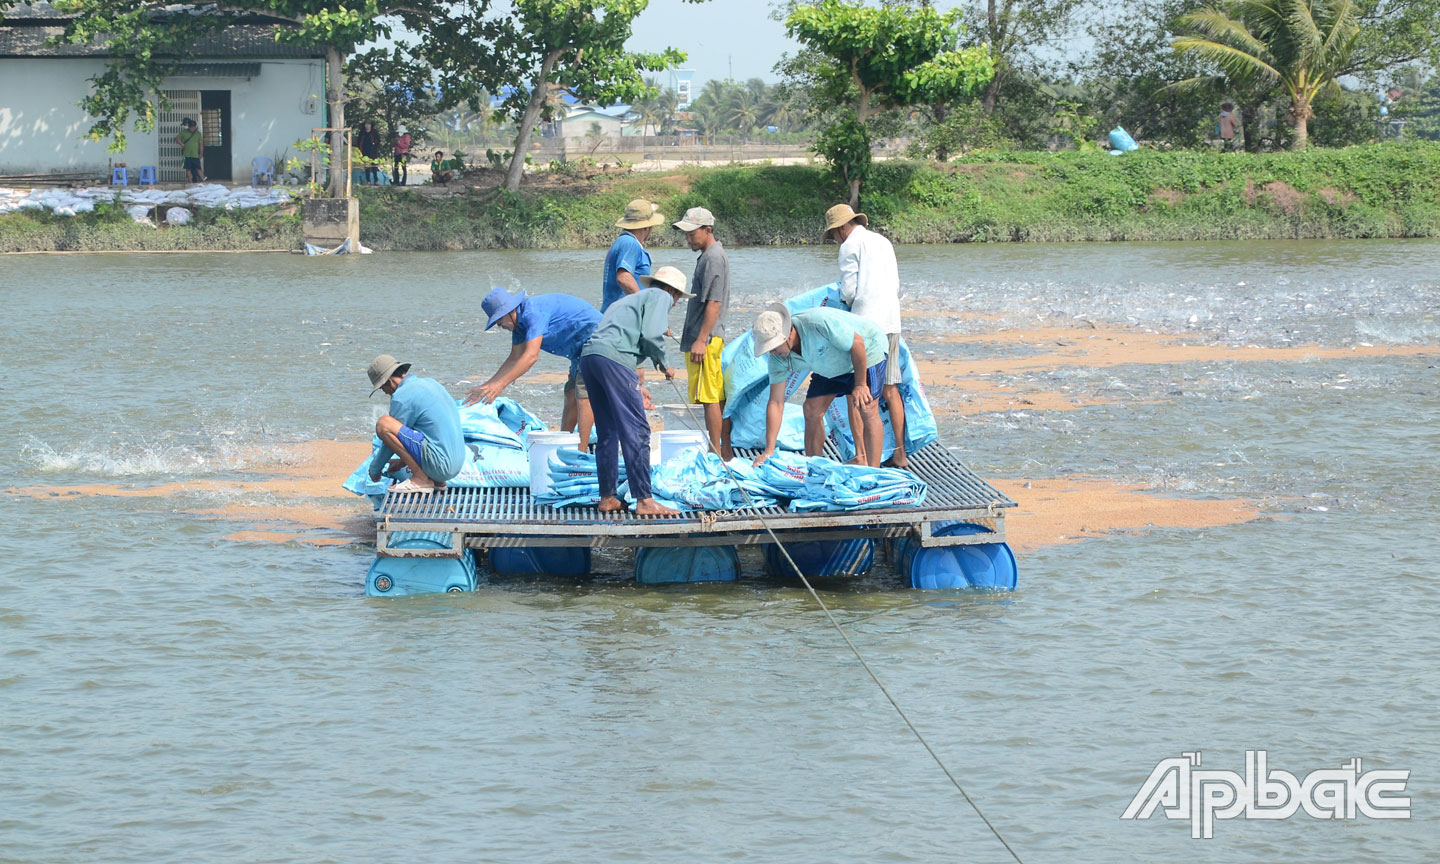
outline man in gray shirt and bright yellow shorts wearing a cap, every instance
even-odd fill
[[[724,374],[720,353],[724,350],[724,314],[730,307],[730,259],[716,239],[716,217],[704,207],[690,207],[675,228],[685,232],[690,249],[700,252],[691,278],[691,297],[685,304],[685,328],[680,346],[685,350],[685,374],[690,403],[704,406],[706,433],[721,459],[732,459],[730,420],[724,415]]]

